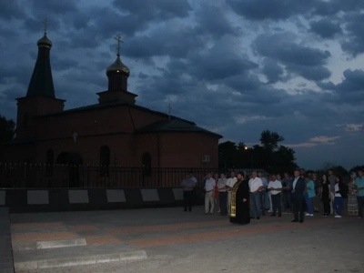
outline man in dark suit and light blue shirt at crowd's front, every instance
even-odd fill
[[[299,170],[295,170],[294,179],[292,182],[291,194],[292,194],[292,202],[293,202],[293,211],[294,211],[294,219],[292,223],[298,222],[303,223],[304,220],[304,192],[306,189],[305,180],[300,177]]]

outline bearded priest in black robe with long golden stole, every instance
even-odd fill
[[[249,185],[244,173],[238,173],[238,182],[231,189],[230,222],[242,225],[250,223]]]

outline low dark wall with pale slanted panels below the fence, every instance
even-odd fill
[[[0,207],[10,212],[177,207],[182,188],[2,188]]]

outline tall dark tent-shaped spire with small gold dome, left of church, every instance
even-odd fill
[[[49,23],[46,18],[42,23],[45,25],[45,34],[36,43],[36,45],[38,45],[38,56],[36,58],[35,68],[33,70],[33,75],[30,80],[26,96],[45,96],[56,98],[49,57],[52,42],[46,36],[47,26]]]

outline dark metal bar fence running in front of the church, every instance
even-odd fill
[[[207,172],[218,170],[0,163],[0,187],[179,187],[187,174],[201,182]]]

